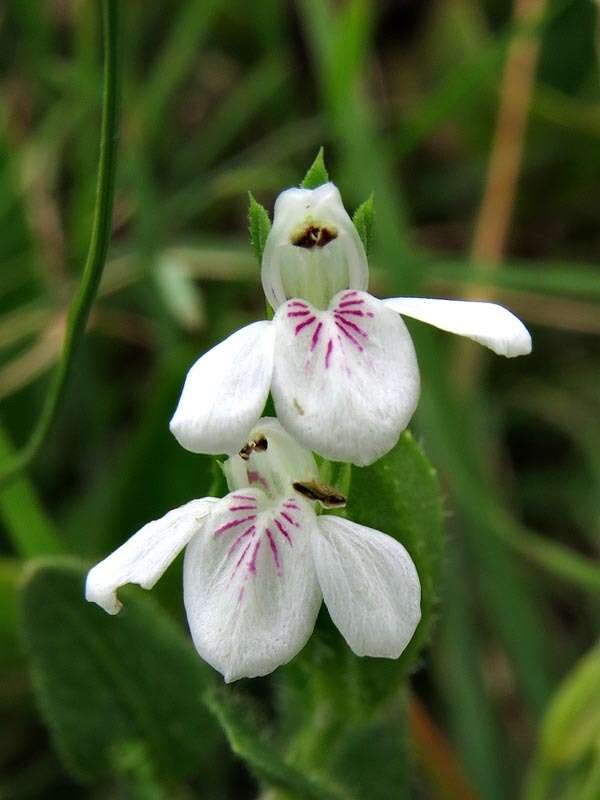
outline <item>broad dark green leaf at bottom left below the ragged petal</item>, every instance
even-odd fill
[[[87,603],[85,572],[37,562],[22,594],[33,683],[65,765],[82,781],[106,778],[138,742],[159,777],[210,774],[217,733],[201,695],[212,671],[150,598],[123,590],[117,617]]]

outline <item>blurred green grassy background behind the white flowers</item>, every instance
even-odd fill
[[[506,361],[409,322],[423,377],[412,429],[440,471],[446,558],[412,680],[412,778],[355,796],[597,800],[597,6],[128,0],[122,12],[109,260],[58,422],[0,494],[0,798],[255,795],[224,741],[208,788],[202,770],[165,795],[71,777],[35,702],[17,594],[27,559],[97,560],[207,494],[210,460],[182,450],[168,418],[192,360],[264,317],[248,190],[272,208],[324,145],[349,210],[375,193],[374,294],[493,299],[534,339]],[[39,414],[88,247],[98,6],[6,0],[0,42],[8,457]],[[182,619],[180,563],[155,595]],[[271,684],[256,686],[269,706]]]

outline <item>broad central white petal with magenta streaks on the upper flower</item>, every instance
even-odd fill
[[[281,424],[305,447],[364,465],[397,442],[419,399],[419,368],[401,318],[365,292],[328,311],[281,306],[272,392]]]

